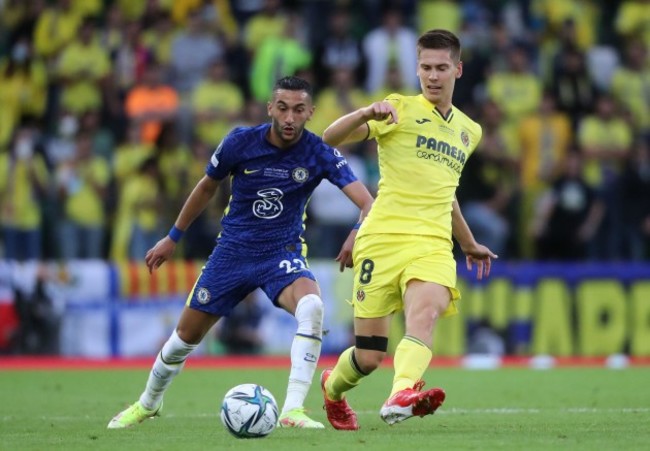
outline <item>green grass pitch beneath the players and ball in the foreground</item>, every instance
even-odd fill
[[[320,370],[319,370],[320,373]],[[186,369],[163,416],[128,430],[111,417],[139,396],[147,370],[0,371],[0,450],[639,450],[650,446],[650,368],[470,371],[431,368],[428,386],[447,400],[429,417],[394,426],[378,415],[392,372],[349,393],[361,430],[326,422],[317,377],[307,399],[325,430],[276,429],[236,439],[219,420],[224,393],[254,382],[284,400],[288,369]],[[317,374],[318,376],[318,374]]]

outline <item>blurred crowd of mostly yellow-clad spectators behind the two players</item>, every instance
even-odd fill
[[[483,127],[458,198],[512,260],[650,259],[650,1],[0,0],[0,258],[142,259],[274,81],[315,88],[308,128],[417,94],[415,45],[457,33],[454,105]],[[376,190],[374,142],[340,149]],[[211,251],[229,193],[186,234]],[[322,185],[312,257],[358,212]]]

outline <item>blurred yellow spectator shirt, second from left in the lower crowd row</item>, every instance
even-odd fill
[[[65,201],[65,212],[68,219],[84,226],[103,226],[106,220],[104,203],[97,192],[105,188],[110,178],[108,163],[102,157],[94,157],[83,161],[74,168],[80,179],[79,189],[69,193]]]

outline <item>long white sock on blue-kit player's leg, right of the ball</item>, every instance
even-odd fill
[[[323,301],[318,295],[308,294],[298,301],[296,320],[298,330],[291,345],[291,372],[282,413],[304,405],[314,378],[323,337]]]

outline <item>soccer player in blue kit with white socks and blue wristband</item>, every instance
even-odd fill
[[[236,128],[224,138],[169,234],[145,256],[150,272],[168,260],[183,231],[204,210],[219,184],[231,180],[232,196],[222,232],[176,329],[156,357],[140,399],[118,413],[109,429],[133,426],[158,415],[163,394],[187,356],[219,318],[256,288],[298,323],[279,424],[324,427],[309,418],[303,406],[320,356],[323,329],[323,302],[302,240],[305,208],[323,179],[338,186],[360,208],[359,222],[368,214],[373,198],[345,158],[305,130],[314,112],[309,83],[297,77],[278,80],[267,110],[270,124]],[[336,258],[341,270],[352,266],[357,228],[352,228]]]

